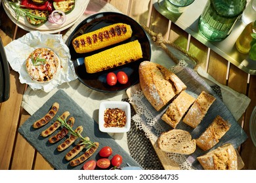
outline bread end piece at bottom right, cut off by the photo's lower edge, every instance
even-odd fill
[[[224,144],[197,159],[205,170],[238,169],[238,157],[232,144]]]

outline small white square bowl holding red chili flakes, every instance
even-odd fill
[[[124,127],[104,127],[104,111],[107,108],[119,108],[125,111],[126,122]],[[104,101],[100,103],[98,111],[98,126],[100,131],[106,133],[125,133],[131,128],[131,107],[125,101]]]

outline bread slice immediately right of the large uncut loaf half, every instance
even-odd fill
[[[169,108],[167,108],[165,114],[161,116],[161,119],[175,128],[195,100],[194,97],[182,91],[179,96],[173,100],[171,105],[169,105]]]

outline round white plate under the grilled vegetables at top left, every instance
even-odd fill
[[[46,22],[45,24],[37,27],[28,23],[25,17],[20,17],[17,22],[16,14],[9,5],[8,0],[3,0],[3,8],[5,9],[7,16],[9,16],[9,18],[12,20],[12,22],[14,22],[14,24],[17,24],[18,27],[26,31],[38,30],[42,31],[43,33],[57,33],[74,25],[75,22],[77,22],[77,20],[79,20],[79,18],[83,15],[83,12],[85,12],[85,9],[87,8],[88,4],[89,0],[76,0],[75,8],[74,10],[72,10],[72,12],[66,15],[66,22],[64,24],[56,25],[51,22]]]

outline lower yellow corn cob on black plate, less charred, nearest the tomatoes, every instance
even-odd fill
[[[142,58],[139,41],[128,42],[85,58],[87,73],[97,73]]]

